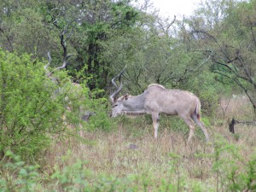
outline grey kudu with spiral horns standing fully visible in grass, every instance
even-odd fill
[[[195,124],[201,128],[207,142],[209,141],[207,129],[200,119],[201,102],[197,96],[189,91],[169,90],[160,84],[149,84],[148,89],[139,96],[121,96],[118,98],[119,92],[123,88],[120,79],[124,70],[112,79],[112,84],[115,87],[113,94],[110,96],[113,106],[112,117],[119,114],[151,114],[154,138],[157,138],[160,113],[178,115],[189,125],[188,142],[194,136]],[[114,82],[117,77],[119,77],[119,87]]]

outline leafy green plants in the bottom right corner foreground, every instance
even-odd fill
[[[227,143],[223,137],[216,137],[212,154],[196,154],[211,157],[212,172],[216,175],[216,191],[253,191],[256,189],[255,154],[245,162],[239,154],[239,148]]]

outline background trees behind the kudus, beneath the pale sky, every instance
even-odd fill
[[[0,46],[38,61],[50,51],[56,66],[71,55],[73,82],[83,73],[90,90],[106,94],[125,65],[125,88],[133,94],[150,83],[193,90],[189,82],[207,70],[213,80],[236,84],[255,110],[255,4],[209,0],[190,17],[163,18],[148,11],[148,1],[138,7],[131,0],[1,0]]]

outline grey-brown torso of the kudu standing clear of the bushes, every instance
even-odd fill
[[[144,107],[149,111],[180,116],[200,112],[200,100],[189,91],[169,90],[160,84],[150,84],[146,91]]]

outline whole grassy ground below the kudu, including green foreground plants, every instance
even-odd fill
[[[74,131],[55,140],[40,160],[5,151],[0,191],[256,191],[254,125],[236,125],[234,135],[227,123],[205,118],[210,143],[200,129],[187,143],[181,119],[161,116],[155,140],[147,115],[108,119],[106,127],[104,115],[93,116],[79,137]]]

